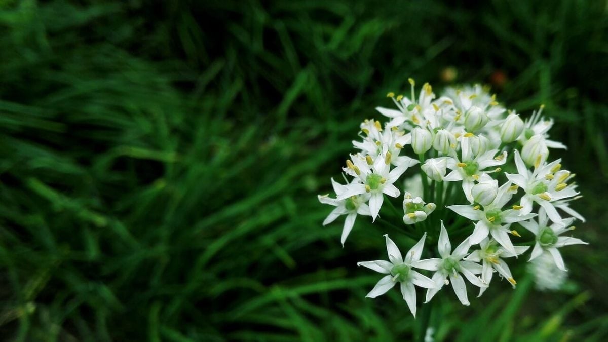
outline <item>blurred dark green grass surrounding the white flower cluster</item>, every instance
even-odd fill
[[[437,340],[608,338],[605,1],[0,1],[0,339],[408,340],[316,194],[407,77],[556,119],[570,281],[438,296]],[[342,222],[339,220],[338,222]],[[406,248],[404,243],[398,245]],[[449,290],[451,291],[451,290]],[[483,327],[483,329],[480,329]]]

